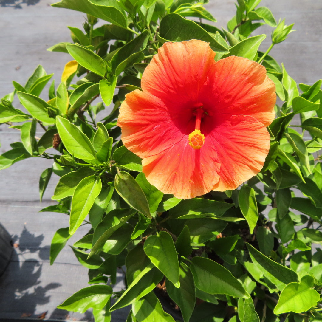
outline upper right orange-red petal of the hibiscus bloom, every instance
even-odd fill
[[[200,93],[217,113],[251,115],[265,126],[275,117],[275,85],[266,69],[247,58],[229,56],[209,72],[209,87]]]

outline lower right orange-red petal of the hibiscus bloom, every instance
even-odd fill
[[[220,179],[212,190],[236,189],[257,175],[270,149],[265,126],[251,116],[232,116],[208,136],[220,160]]]

